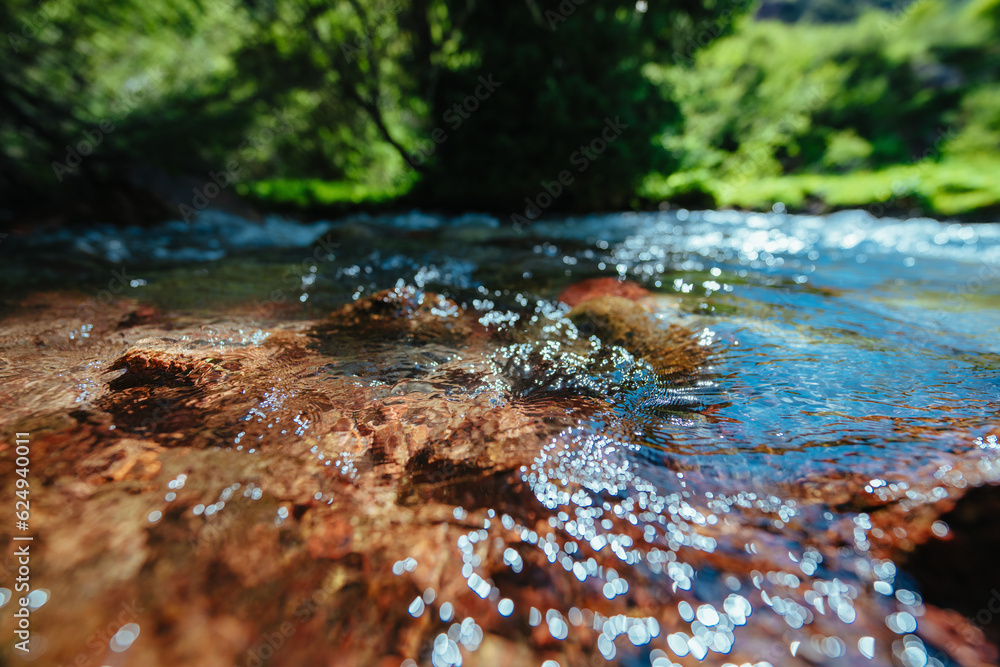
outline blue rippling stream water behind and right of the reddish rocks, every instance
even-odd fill
[[[345,228],[331,255],[311,251]],[[54,260],[43,282],[89,282],[97,293],[123,267],[123,295],[190,312],[248,303],[261,321],[284,304],[316,316],[401,284],[488,312],[554,300],[589,277],[637,281],[673,297],[664,310],[722,348],[711,381],[688,389],[716,407],[711,426],[671,429],[669,448],[731,453],[738,465],[752,453],[849,464],[856,447],[876,456],[895,442],[894,419],[985,427],[1000,401],[1000,224],[682,210],[510,230],[478,215],[254,224],[210,212],[193,227],[94,227],[10,244],[12,281],[37,281],[40,256]]]

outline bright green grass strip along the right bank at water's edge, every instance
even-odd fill
[[[705,171],[650,175],[639,194],[650,200],[713,202],[770,210],[836,210],[881,205],[889,212],[918,208],[925,215],[948,217],[1000,210],[1000,156],[925,160],[878,170],[844,174],[789,174],[752,179],[714,180]]]

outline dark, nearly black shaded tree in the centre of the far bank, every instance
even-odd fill
[[[671,168],[658,137],[678,120],[643,66],[738,7],[450,0],[464,25],[432,97],[418,192],[524,217],[627,206],[646,173]]]

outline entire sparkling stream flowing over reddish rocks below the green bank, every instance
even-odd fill
[[[208,213],[0,252],[41,664],[991,659],[904,561],[1000,480],[1000,225]],[[595,277],[650,331],[571,318]],[[625,342],[670,324],[695,371]]]

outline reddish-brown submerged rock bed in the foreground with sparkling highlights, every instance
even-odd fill
[[[43,323],[73,297],[39,303],[0,339],[46,343],[5,369],[0,472],[30,432],[40,664],[941,664],[887,560],[892,521],[945,511],[941,462],[877,502],[861,472],[640,474],[642,411],[712,348],[633,301],[496,318],[404,286],[267,330],[123,304],[72,341]]]

